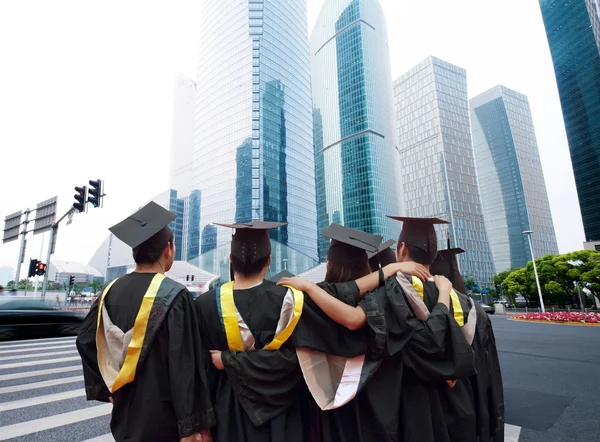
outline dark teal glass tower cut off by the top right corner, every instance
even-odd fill
[[[600,249],[600,53],[596,1],[540,0],[588,246]],[[592,15],[590,16],[590,11]]]

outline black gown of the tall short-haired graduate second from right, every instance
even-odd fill
[[[386,404],[388,419],[380,421],[390,433],[386,440],[404,442],[447,442],[453,440],[447,425],[443,395],[449,389],[446,380],[466,378],[475,373],[474,354],[467,343],[451,311],[437,303],[435,284],[424,283],[424,297],[435,299],[430,306],[427,321],[415,319],[412,309],[406,302],[402,289],[395,278],[388,279],[385,288],[367,294],[361,304],[367,311],[367,322],[378,333],[375,315],[369,314],[377,308],[385,312],[388,340],[385,352],[395,361],[398,355],[402,364],[402,381],[394,402]],[[410,338],[403,342],[402,335],[406,324],[414,330]],[[385,365],[387,361],[382,364]],[[396,362],[397,363],[397,362]],[[368,385],[367,385],[368,387]],[[456,388],[456,387],[455,387]],[[383,393],[382,389],[382,393]],[[468,395],[468,390],[461,394]],[[399,398],[398,402],[396,400]],[[468,404],[468,402],[467,402]],[[381,408],[384,404],[374,404]],[[375,408],[377,410],[378,408]],[[467,415],[472,415],[470,411]],[[375,412],[384,415],[384,412]],[[392,433],[394,430],[396,432]],[[460,440],[460,439],[458,439]]]

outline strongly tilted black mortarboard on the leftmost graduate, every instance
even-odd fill
[[[161,238],[153,239],[153,248],[164,248],[171,239],[172,232],[170,229],[165,229],[177,216],[169,212],[162,206],[159,206],[154,201],[150,201],[133,215],[128,216],[120,223],[112,226],[110,229],[112,234],[123,241],[125,244],[135,249],[161,233]],[[164,233],[164,235],[163,235]],[[165,238],[162,238],[164,236]],[[161,244],[164,239],[164,244]]]

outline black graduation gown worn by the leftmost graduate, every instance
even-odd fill
[[[118,279],[106,295],[108,314],[121,330],[133,327],[154,276],[126,275]],[[135,378],[112,395],[111,431],[117,442],[175,442],[215,424],[206,381],[208,361],[200,340],[192,295],[185,287],[177,286],[178,293],[168,305],[159,291],[150,313]],[[161,309],[163,312],[159,312]],[[111,394],[97,361],[98,311],[99,300],[84,321],[77,337],[77,349],[83,363],[87,399],[108,402]],[[156,320],[159,316],[164,319]],[[147,342],[150,335],[154,336],[152,343]]]

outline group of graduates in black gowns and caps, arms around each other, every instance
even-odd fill
[[[233,229],[232,281],[194,297],[166,277],[175,216],[149,203],[112,227],[136,268],[77,338],[88,400],[112,402],[117,442],[499,442],[491,322],[466,295],[439,219],[395,241],[332,225],[325,281],[267,279],[269,230]]]

